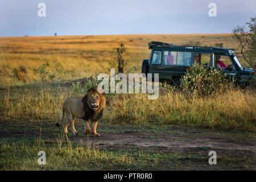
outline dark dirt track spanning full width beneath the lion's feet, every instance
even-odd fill
[[[77,128],[82,128],[80,124]],[[0,137],[35,137],[40,134],[40,126],[36,123],[26,123],[15,125],[12,123],[2,123],[0,125]],[[184,127],[164,127],[164,128],[144,128],[126,127],[100,124],[98,132],[101,137],[91,137],[91,135],[81,134],[75,136],[71,134],[69,139],[72,142],[85,144],[99,144],[100,148],[123,148],[123,146],[139,147],[162,147],[166,150],[210,147],[222,150],[249,150],[256,154],[255,133],[214,131],[209,129],[191,129]],[[53,124],[42,125],[41,136],[53,137],[61,133],[61,129]]]

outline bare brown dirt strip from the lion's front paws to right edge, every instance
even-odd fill
[[[256,152],[255,140],[247,142],[246,140],[234,140],[223,137],[208,137],[208,136],[188,136],[188,135],[173,135],[173,134],[152,134],[152,133],[118,133],[105,135],[98,138],[72,138],[72,141],[84,143],[97,144],[105,148],[116,146],[122,148],[123,146],[137,145],[140,147],[158,146],[166,148],[166,150],[182,149],[182,148],[196,148],[196,147],[210,147],[225,150],[250,150],[254,154]]]

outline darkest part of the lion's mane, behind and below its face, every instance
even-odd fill
[[[96,88],[91,88],[88,90],[88,92],[91,90],[97,92]],[[82,98],[82,103],[84,104],[84,115],[82,116],[82,119],[84,119],[85,121],[88,121],[90,119],[90,121],[92,122],[98,121],[100,118],[102,118],[104,109],[102,108],[100,111],[94,111],[92,108],[90,108],[87,101],[88,94],[86,94],[84,98]]]

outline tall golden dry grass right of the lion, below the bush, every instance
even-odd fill
[[[188,125],[219,129],[255,131],[254,91],[228,91],[220,96],[197,97],[164,93],[157,100],[146,95],[116,96],[110,102],[110,123],[132,125]]]

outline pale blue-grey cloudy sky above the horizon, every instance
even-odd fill
[[[0,36],[230,33],[254,15],[255,0],[1,0]]]

